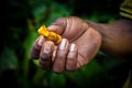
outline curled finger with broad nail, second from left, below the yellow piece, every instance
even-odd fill
[[[50,69],[52,67],[52,55],[54,52],[54,43],[46,41],[40,53],[40,66],[44,69]]]

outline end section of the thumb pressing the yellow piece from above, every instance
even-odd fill
[[[52,23],[47,29],[48,31],[63,34],[64,30],[66,29],[67,22],[66,18],[59,18],[55,22]]]

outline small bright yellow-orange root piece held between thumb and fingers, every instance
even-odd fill
[[[55,44],[61,43],[62,36],[55,32],[50,32],[45,25],[42,25],[37,30],[38,34],[43,35],[46,40],[54,42]]]

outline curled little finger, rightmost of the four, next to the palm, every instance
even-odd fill
[[[77,68],[77,46],[72,44],[66,61],[66,70],[76,70]]]

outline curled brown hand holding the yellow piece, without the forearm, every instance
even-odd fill
[[[32,46],[31,57],[55,73],[77,70],[94,58],[101,45],[101,35],[77,16],[59,18],[48,30],[64,38],[55,45],[41,35]]]

